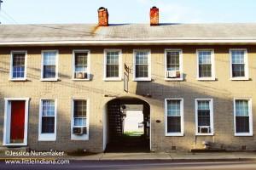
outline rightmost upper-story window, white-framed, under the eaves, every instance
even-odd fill
[[[231,60],[231,79],[232,80],[247,80],[247,50],[246,49],[230,49]]]

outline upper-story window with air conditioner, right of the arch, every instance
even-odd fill
[[[183,59],[181,49],[166,49],[166,80],[183,80]]]

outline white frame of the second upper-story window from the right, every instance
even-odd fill
[[[212,77],[199,77],[199,52],[201,51],[210,51],[211,52],[211,64],[212,64]],[[216,80],[216,75],[215,75],[215,54],[214,54],[214,49],[212,48],[199,48],[196,49],[196,60],[197,60],[197,75],[196,79],[199,81],[215,81]]]

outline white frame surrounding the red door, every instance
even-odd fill
[[[11,101],[25,101],[25,122],[24,122],[24,141],[23,143],[10,143],[10,120],[11,120]],[[15,146],[15,145],[27,145],[27,125],[28,125],[28,103],[29,98],[4,98],[4,125],[3,125],[3,145]]]

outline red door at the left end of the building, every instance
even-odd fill
[[[23,143],[25,124],[25,102],[11,101],[10,142]]]

